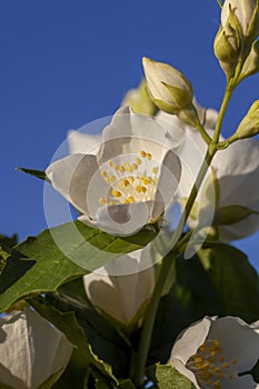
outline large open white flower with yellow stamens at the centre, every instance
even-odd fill
[[[79,220],[116,235],[158,221],[172,201],[181,167],[171,137],[152,118],[120,109],[92,153],[53,162],[48,179],[82,213]]]

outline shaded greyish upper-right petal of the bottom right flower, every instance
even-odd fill
[[[259,358],[259,333],[239,318],[217,319],[209,338],[220,340],[225,359],[236,359],[239,373],[249,371]]]

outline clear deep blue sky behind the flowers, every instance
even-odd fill
[[[177,67],[201,104],[219,108],[219,13],[216,0],[0,1],[0,232],[23,239],[46,228],[42,182],[14,168],[44,170],[68,129],[112,114],[140,81],[142,56]],[[225,134],[258,91],[259,76],[238,89]],[[258,238],[239,245],[253,263]]]

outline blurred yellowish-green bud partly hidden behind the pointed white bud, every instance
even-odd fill
[[[155,116],[158,111],[147,92],[147,82],[143,80],[138,88],[131,89],[126,94],[121,106],[130,106],[136,113]]]

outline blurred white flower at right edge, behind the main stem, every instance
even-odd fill
[[[221,240],[235,240],[248,237],[259,229],[259,141],[243,139],[229,146],[228,149],[218,151],[212,160],[212,169],[217,179],[215,191],[216,202],[211,203],[210,180],[205,181],[200,191],[200,212],[216,206],[216,227]],[[207,183],[207,184],[206,184]],[[210,189],[209,189],[210,188]],[[239,206],[255,211],[237,222],[217,225],[217,211],[230,206]]]

